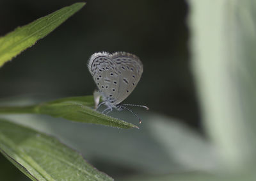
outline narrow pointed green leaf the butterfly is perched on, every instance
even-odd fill
[[[35,113],[48,114],[53,117],[65,118],[75,122],[95,123],[119,128],[138,128],[131,123],[118,120],[106,114],[95,111],[92,96],[60,98],[35,106],[0,107],[0,114],[6,113]]]

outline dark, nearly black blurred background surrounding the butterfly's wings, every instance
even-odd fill
[[[0,36],[76,2],[0,0]],[[200,131],[186,1],[86,2],[0,69],[0,98],[92,95],[95,84],[86,67],[90,55],[125,51],[139,56],[144,65],[141,81],[125,103],[145,104]]]

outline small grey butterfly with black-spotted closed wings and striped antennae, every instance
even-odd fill
[[[148,109],[147,106],[120,104],[134,90],[143,72],[143,64],[134,54],[97,52],[90,57],[88,69],[102,96],[103,102],[99,106],[102,104],[107,106],[103,113],[108,111],[108,114],[113,108],[118,111],[123,109],[131,111],[125,106],[138,106]],[[131,112],[138,117],[136,113]],[[140,118],[139,120],[141,123]]]

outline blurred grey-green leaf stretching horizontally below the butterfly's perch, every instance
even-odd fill
[[[125,174],[131,171],[160,174],[211,171],[220,167],[220,157],[214,146],[190,127],[152,111],[141,110],[138,113],[143,119],[140,129],[123,130],[65,120],[56,122],[54,118],[36,114],[3,116],[56,136],[112,177],[119,176],[122,171]],[[129,112],[116,111],[112,114],[127,121],[138,121]],[[70,130],[76,130],[76,134]]]

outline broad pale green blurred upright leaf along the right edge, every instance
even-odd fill
[[[191,0],[193,71],[225,168],[256,164],[256,1]]]

